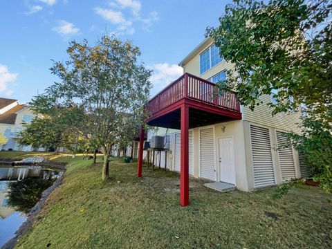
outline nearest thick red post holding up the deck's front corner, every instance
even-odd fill
[[[181,106],[180,205],[189,205],[189,107]]]

